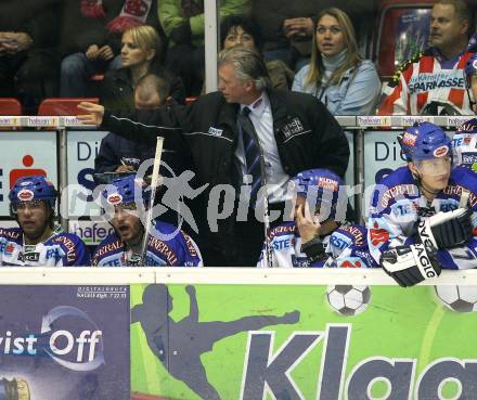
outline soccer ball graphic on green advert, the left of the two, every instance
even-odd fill
[[[356,315],[363,312],[370,304],[371,289],[369,286],[328,286],[326,299],[333,311],[341,315]]]

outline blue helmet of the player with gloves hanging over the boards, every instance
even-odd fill
[[[452,155],[451,139],[431,122],[414,124],[398,136],[407,162]]]

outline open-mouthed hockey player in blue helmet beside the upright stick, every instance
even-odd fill
[[[93,266],[99,267],[202,267],[202,256],[194,241],[180,229],[156,221],[147,237],[143,258],[142,243],[145,234],[143,221],[149,205],[150,190],[134,176],[119,178],[103,192],[104,208],[109,210],[109,223],[115,232],[106,236],[93,255]]]

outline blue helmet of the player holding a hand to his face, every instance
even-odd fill
[[[339,188],[345,184],[343,179],[328,169],[307,169],[298,172],[294,178],[295,191],[297,196],[314,199],[315,209],[322,204],[330,207],[330,218],[336,216],[338,204]],[[314,203],[314,202],[313,202]]]

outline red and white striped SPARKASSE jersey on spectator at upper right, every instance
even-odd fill
[[[420,115],[431,102],[449,104],[462,115],[473,115],[464,68],[472,52],[441,62],[427,49],[404,63],[384,89],[378,115]]]

